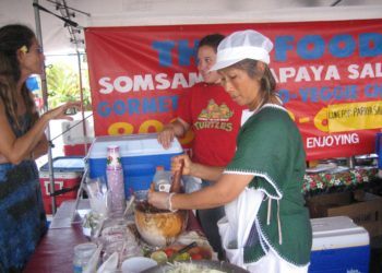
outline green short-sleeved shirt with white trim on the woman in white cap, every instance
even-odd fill
[[[249,187],[265,193],[255,219],[260,241],[244,248],[246,263],[258,261],[270,248],[295,265],[309,263],[312,230],[301,194],[305,169],[295,122],[284,108],[264,105],[242,126],[235,157],[224,171],[254,175]]]

